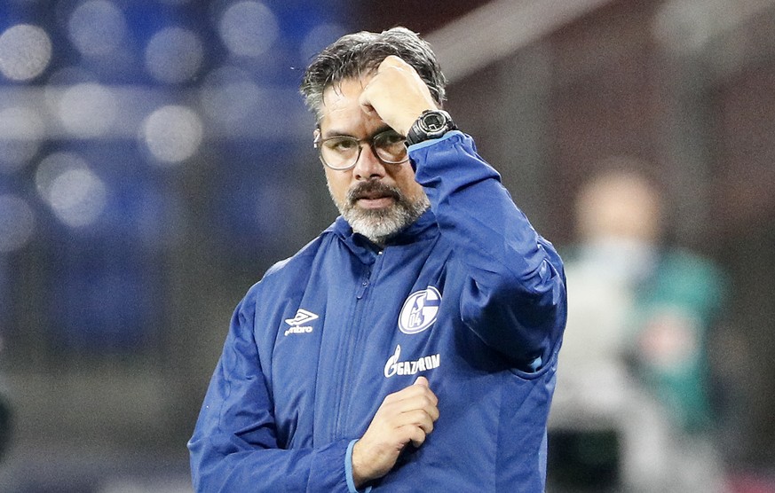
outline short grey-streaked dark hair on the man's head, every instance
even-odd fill
[[[324,90],[345,79],[375,71],[390,55],[415,68],[440,107],[446,98],[447,79],[441,73],[431,45],[406,27],[393,27],[379,34],[361,31],[344,35],[320,51],[304,72],[299,88],[304,103],[320,121]]]

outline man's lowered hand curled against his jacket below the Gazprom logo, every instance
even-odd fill
[[[356,488],[387,474],[407,443],[419,447],[425,442],[433,422],[439,419],[438,403],[425,377],[384,398],[366,433],[352,448]]]

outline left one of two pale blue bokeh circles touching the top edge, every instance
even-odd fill
[[[113,53],[127,33],[123,12],[112,2],[90,0],[75,7],[67,22],[67,35],[86,56]]]

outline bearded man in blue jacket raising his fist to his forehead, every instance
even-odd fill
[[[444,83],[401,27],[308,67],[341,216],[236,309],[195,489],[543,491],[562,264],[439,112]]]

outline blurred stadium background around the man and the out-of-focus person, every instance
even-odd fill
[[[775,0],[4,0],[0,490],[190,491],[233,307],[336,216],[304,67],[396,25],[434,46],[447,109],[569,258],[590,177],[625,162],[660,184],[660,248],[718,288],[701,333],[716,471],[775,491]],[[571,452],[554,491],[626,469],[569,471]]]

